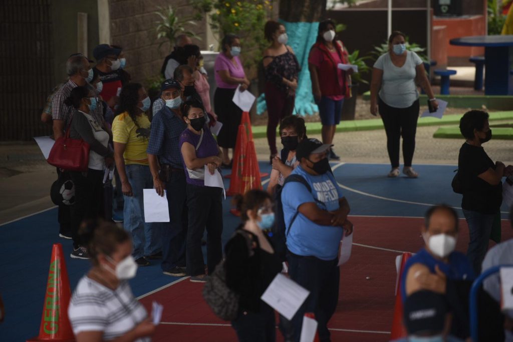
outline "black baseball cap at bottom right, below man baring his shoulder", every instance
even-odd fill
[[[432,291],[417,291],[404,302],[404,325],[409,335],[435,335],[445,329],[445,298]]]

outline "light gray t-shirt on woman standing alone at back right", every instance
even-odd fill
[[[401,68],[393,65],[390,53],[381,55],[374,68],[383,70],[380,98],[390,107],[408,108],[419,98],[415,85],[415,68],[422,59],[412,51],[407,51],[406,62]]]

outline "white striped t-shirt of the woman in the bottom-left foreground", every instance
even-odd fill
[[[75,335],[83,331],[103,331],[106,341],[124,335],[147,317],[146,310],[133,296],[128,281],[111,290],[87,275],[78,281],[68,315]],[[136,340],[150,341],[150,337]]]

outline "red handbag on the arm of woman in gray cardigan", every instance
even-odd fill
[[[71,120],[66,134],[55,140],[47,162],[65,171],[87,171],[89,166],[89,144],[84,139],[72,139],[69,137]]]

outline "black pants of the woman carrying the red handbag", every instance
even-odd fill
[[[70,208],[71,237],[73,248],[81,245],[78,228],[84,219],[100,216],[103,206],[103,174],[101,170],[88,169],[87,172],[70,172],[75,187],[75,204]]]

